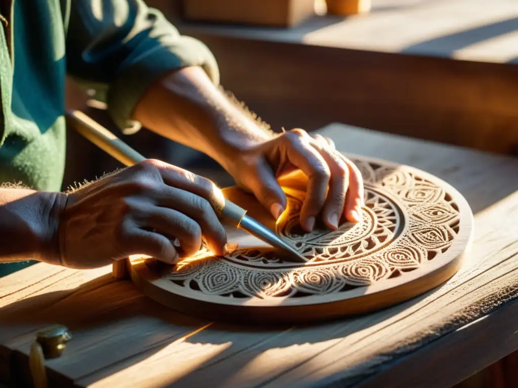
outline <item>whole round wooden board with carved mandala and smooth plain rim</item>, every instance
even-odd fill
[[[283,178],[288,207],[275,222],[250,195],[225,195],[276,230],[306,263],[290,262],[247,233],[228,229],[238,249],[225,257],[207,250],[175,267],[131,260],[131,276],[153,299],[187,314],[254,323],[300,323],[406,301],[437,287],[458,270],[471,244],[473,216],[464,197],[423,171],[352,157],[364,179],[358,223],[306,233],[299,213],[306,178]]]

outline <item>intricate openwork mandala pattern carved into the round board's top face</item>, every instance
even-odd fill
[[[258,250],[185,264],[167,278],[176,287],[241,299],[347,292],[441,260],[459,233],[459,210],[442,187],[406,167],[353,160],[365,186],[363,220],[335,231],[299,226],[301,200],[289,197],[278,234],[304,265]]]

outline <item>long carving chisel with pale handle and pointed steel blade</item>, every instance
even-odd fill
[[[119,160],[125,166],[132,166],[143,160],[145,157],[140,155],[132,147],[124,143],[108,129],[94,121],[88,115],[81,111],[67,111],[66,118],[69,124],[74,127],[83,137],[90,140],[103,151]],[[268,228],[248,216],[247,211],[236,205],[235,203],[225,199],[225,206],[221,210],[219,216],[222,221],[230,223],[236,228],[242,229],[269,245],[279,249],[287,254],[292,260],[298,262],[307,262],[304,256],[301,256],[290,245],[281,240],[275,233]]]

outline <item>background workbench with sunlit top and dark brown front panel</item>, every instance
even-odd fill
[[[172,2],[147,1],[210,48],[222,85],[273,128],[347,122],[518,153],[516,0],[372,0],[288,29],[185,22]]]

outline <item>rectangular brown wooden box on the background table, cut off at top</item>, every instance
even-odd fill
[[[188,20],[290,27],[314,14],[314,0],[184,0]]]

